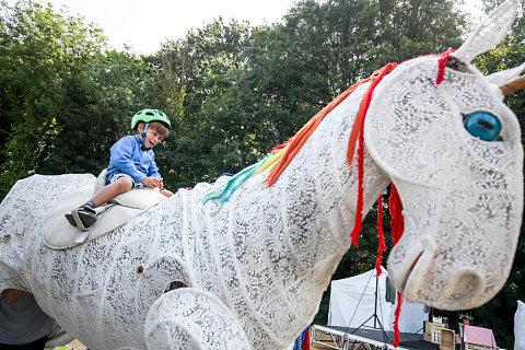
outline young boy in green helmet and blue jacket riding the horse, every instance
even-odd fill
[[[96,222],[96,207],[132,188],[159,187],[162,195],[172,197],[173,192],[164,188],[152,150],[167,136],[170,127],[170,119],[159,109],[138,112],[131,119],[136,135],[121,138],[112,147],[106,186],[67,213],[69,223],[89,230]]]

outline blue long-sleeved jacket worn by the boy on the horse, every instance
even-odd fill
[[[106,183],[115,174],[126,174],[140,184],[144,177],[161,177],[152,149],[142,150],[139,137],[130,135],[112,147]]]

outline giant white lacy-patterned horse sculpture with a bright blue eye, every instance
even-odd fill
[[[388,270],[408,301],[476,307],[510,272],[523,151],[498,86],[523,67],[486,78],[470,61],[504,37],[516,7],[500,7],[446,67],[441,57],[413,59],[373,92],[364,210],[395,184],[405,233]],[[222,178],[179,190],[84,245],[52,250],[42,238],[47,213],[73,190],[92,188],[94,177],[20,180],[0,207],[0,290],[34,293],[91,349],[287,348],[312,322],[350,246],[359,162],[348,166],[347,147],[369,85],[323,119],[272,186],[264,174],[250,177],[214,215],[219,199],[202,203]],[[187,288],[171,290],[175,281]]]

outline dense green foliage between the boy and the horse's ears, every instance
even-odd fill
[[[390,21],[400,7],[412,18]],[[191,186],[238,172],[384,63],[458,44],[463,25],[448,0],[306,0],[283,24],[249,28],[219,19],[165,43],[145,60],[165,96],[162,108],[177,120],[160,155],[170,164],[166,183]]]

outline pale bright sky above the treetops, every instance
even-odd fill
[[[13,3],[15,0],[8,0]],[[88,23],[104,31],[109,45],[132,52],[148,55],[161,48],[166,39],[186,36],[191,28],[202,27],[222,16],[248,21],[250,25],[282,22],[282,16],[295,0],[35,0],[50,2],[56,10],[67,7],[73,15],[82,15]],[[465,0],[477,12],[481,0]]]

